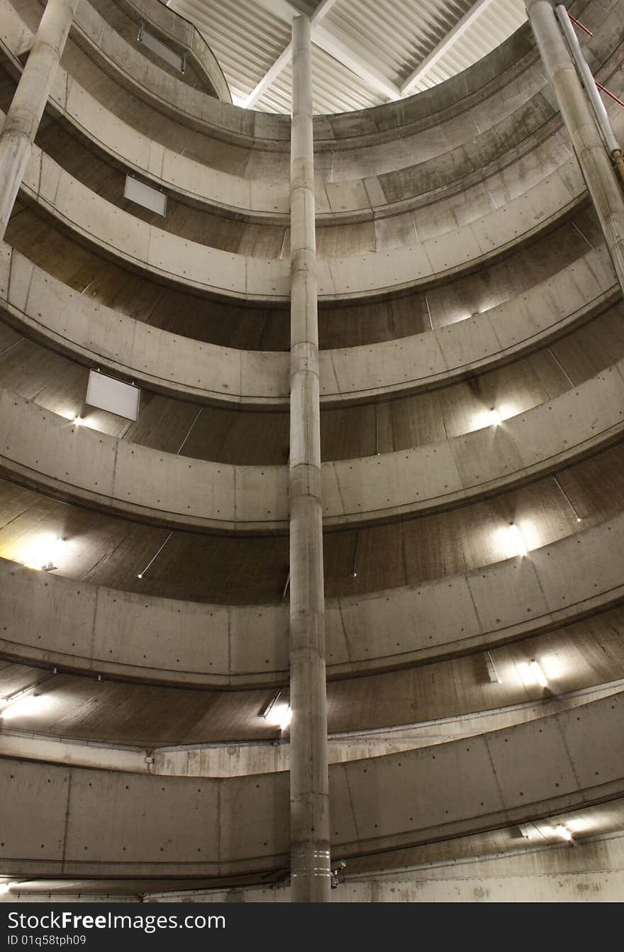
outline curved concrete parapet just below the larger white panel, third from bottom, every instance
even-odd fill
[[[623,404],[619,361],[499,426],[392,453],[319,460],[323,526],[432,512],[559,470],[621,438]],[[287,525],[286,466],[228,466],[127,443],[5,388],[0,421],[0,470],[17,482],[166,526],[258,534]]]

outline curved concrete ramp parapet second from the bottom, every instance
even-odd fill
[[[328,599],[328,673],[392,670],[501,645],[614,605],[624,594],[623,538],[620,517],[536,548],[530,557],[414,587]],[[287,605],[146,598],[4,560],[0,572],[0,604],[9,618],[0,645],[13,660],[162,684],[251,686],[285,678]]]

